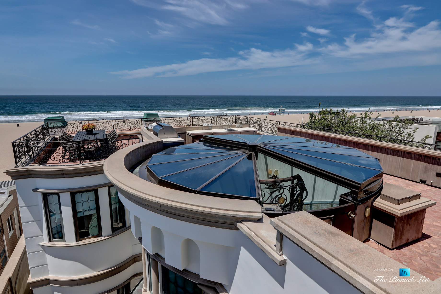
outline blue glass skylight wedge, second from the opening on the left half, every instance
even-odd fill
[[[174,175],[168,175],[161,179],[196,190],[242,157],[243,156],[235,156],[230,159],[204,165],[202,167],[196,167]],[[228,183],[226,184],[228,185]]]

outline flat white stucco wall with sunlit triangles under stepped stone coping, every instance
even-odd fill
[[[284,238],[286,264],[278,266],[245,235],[237,239],[236,268],[230,294],[360,294],[351,284]],[[233,258],[233,259],[235,259]]]

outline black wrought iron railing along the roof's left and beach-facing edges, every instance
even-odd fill
[[[37,158],[37,154],[45,152],[44,149],[51,149],[50,144],[53,144],[54,138],[65,132],[75,134],[82,130],[82,126],[86,123],[94,123],[97,130],[105,130],[109,132],[116,130],[118,132],[138,131],[148,128],[150,123],[154,122],[168,123],[172,127],[186,127],[186,126],[201,126],[204,123],[210,125],[240,125],[249,124],[250,127],[260,130],[263,133],[277,134],[277,126],[299,127],[303,129],[321,130],[333,134],[350,135],[360,138],[368,138],[378,141],[385,141],[389,143],[396,143],[401,145],[411,145],[414,147],[440,150],[441,145],[431,143],[423,143],[417,141],[409,141],[404,139],[382,137],[371,134],[361,134],[349,132],[344,130],[327,129],[322,127],[313,127],[306,124],[286,123],[269,119],[260,119],[246,115],[207,115],[207,116],[180,116],[180,117],[161,117],[158,119],[93,119],[93,120],[79,120],[67,121],[64,124],[60,123],[44,123],[35,130],[30,131],[26,135],[18,138],[12,142],[12,149],[15,157],[16,166],[22,164],[33,163]],[[81,157],[81,156],[80,156]],[[79,161],[79,160],[78,160]]]

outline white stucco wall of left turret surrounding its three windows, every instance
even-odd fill
[[[49,242],[43,197],[41,193],[33,192],[39,189],[68,189],[81,188],[108,183],[104,174],[67,179],[19,179],[16,180],[17,195],[19,200],[20,214],[22,217],[23,235],[26,242],[31,278],[39,278],[46,275],[54,276],[77,276],[87,275],[107,268],[126,260],[132,255],[141,253],[141,246],[130,230],[99,242],[81,246],[50,247],[41,246],[40,243]],[[101,215],[102,235],[112,234],[110,222],[110,209],[108,199],[108,188],[98,189],[98,199]],[[60,205],[63,217],[63,232],[66,243],[75,243],[75,229],[70,193],[60,193]],[[126,210],[127,211],[127,210]],[[128,212],[128,211],[127,211]],[[130,225],[130,216],[127,213],[127,223]],[[142,271],[141,262],[136,263],[135,268]],[[133,267],[133,266],[132,266]],[[123,283],[123,277],[133,275],[133,270],[126,269],[121,273],[121,279],[115,276],[112,283],[116,285]],[[84,286],[85,289],[89,287]],[[98,287],[98,286],[90,286]],[[105,284],[101,284],[100,291],[108,290]],[[44,287],[46,288],[46,287]],[[99,288],[99,287],[98,287]],[[52,288],[50,288],[52,289]],[[54,290],[53,288],[52,290]],[[56,291],[56,290],[54,290]],[[58,292],[42,292],[58,293]],[[84,292],[59,292],[59,293],[94,293]]]

